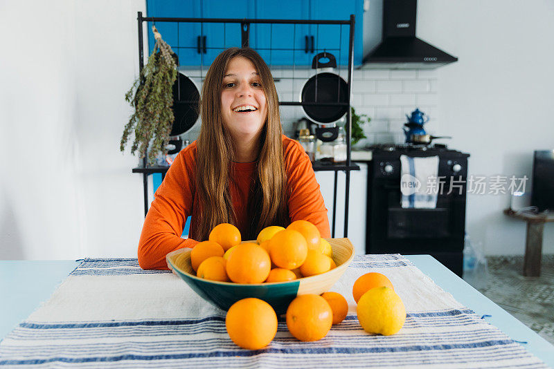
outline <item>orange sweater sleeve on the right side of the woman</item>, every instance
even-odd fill
[[[329,218],[323,196],[316,182],[312,162],[301,144],[285,139],[285,167],[287,170],[290,220],[308,220],[323,238],[329,238]]]

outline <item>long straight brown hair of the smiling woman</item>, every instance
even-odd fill
[[[277,91],[265,61],[251,48],[229,48],[213,61],[202,86],[202,126],[197,140],[196,184],[199,219],[196,240],[207,240],[211,229],[220,223],[236,225],[229,183],[233,180],[234,149],[225,129],[221,111],[223,76],[234,57],[249,59],[258,74],[267,102],[267,119],[260,134],[256,176],[247,206],[249,229],[243,240],[256,239],[269,225],[287,226],[287,176]],[[243,232],[244,233],[244,232]]]

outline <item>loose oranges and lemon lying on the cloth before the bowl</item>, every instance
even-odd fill
[[[368,333],[388,336],[402,328],[406,310],[391,281],[380,273],[367,273],[357,278],[352,287],[361,328]],[[341,323],[348,314],[348,303],[337,292],[321,296],[296,296],[287,308],[289,332],[300,341],[317,341],[328,334],[332,325]],[[277,333],[277,315],[269,303],[260,299],[242,299],[234,303],[225,318],[229,337],[238,346],[259,350],[267,346]]]

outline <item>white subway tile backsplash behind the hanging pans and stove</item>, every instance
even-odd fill
[[[190,72],[189,72],[190,73]],[[281,101],[299,101],[305,81],[312,70],[272,70]],[[187,73],[185,73],[187,74]],[[341,70],[346,79],[346,70]],[[295,79],[288,79],[294,77]],[[200,85],[198,81],[197,86]],[[200,87],[200,86],[199,86]],[[438,74],[436,70],[354,70],[352,106],[358,114],[367,114],[371,122],[364,126],[367,136],[357,146],[404,142],[402,127],[416,107],[429,115],[428,133],[440,133],[438,119]],[[293,134],[294,122],[304,117],[300,106],[280,106],[283,130]],[[184,133],[186,140],[196,140],[200,124]]]

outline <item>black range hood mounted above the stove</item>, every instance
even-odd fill
[[[383,1],[381,44],[362,61],[362,69],[434,69],[458,61],[415,37],[417,0]]]

